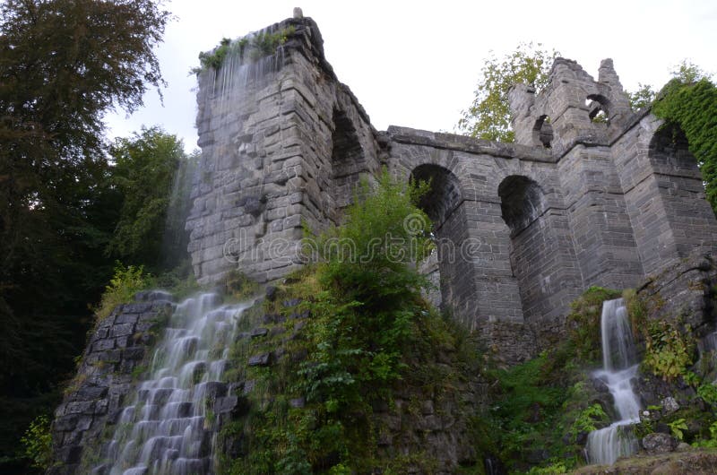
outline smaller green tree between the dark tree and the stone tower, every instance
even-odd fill
[[[158,127],[117,139],[110,154],[111,183],[122,196],[122,208],[108,255],[154,271],[170,267],[186,250],[184,198],[195,158],[186,156],[176,135]]]

